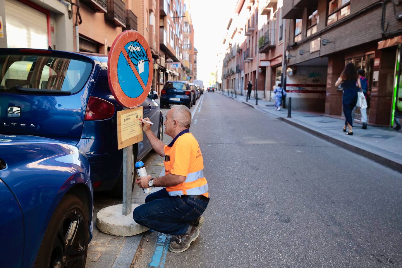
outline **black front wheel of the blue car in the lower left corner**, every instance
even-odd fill
[[[34,268],[84,268],[89,243],[89,220],[87,209],[80,198],[66,194],[49,221]],[[71,236],[68,236],[69,230],[73,230]],[[67,245],[65,241],[68,241]],[[58,262],[61,263],[60,266],[57,265]]]

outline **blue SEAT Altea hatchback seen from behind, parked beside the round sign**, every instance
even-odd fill
[[[0,134],[35,135],[76,145],[88,157],[95,191],[121,197],[123,150],[117,149],[117,111],[107,56],[42,49],[0,49]],[[144,117],[162,139],[163,116],[150,91]],[[152,150],[133,146],[134,160]],[[134,172],[135,174],[135,172]],[[134,183],[133,183],[134,185]]]

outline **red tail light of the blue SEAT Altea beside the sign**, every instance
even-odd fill
[[[115,114],[115,106],[101,98],[89,97],[84,120],[109,119]]]

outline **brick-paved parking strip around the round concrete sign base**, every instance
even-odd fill
[[[171,140],[171,137],[163,135],[164,143],[168,143]],[[154,151],[150,152],[143,162],[147,173],[152,177],[159,176],[163,170],[163,158]],[[154,190],[159,189],[155,188]],[[134,204],[143,204],[146,196],[147,194],[144,194],[138,186],[134,186],[132,195]],[[121,199],[111,198],[107,193],[96,192],[94,194],[94,215],[92,217],[94,237],[88,245],[86,268],[127,268],[130,266],[143,235],[139,234],[132,237],[114,236],[101,233],[96,228],[96,213],[100,209],[121,203]],[[131,245],[133,245],[132,248]]]

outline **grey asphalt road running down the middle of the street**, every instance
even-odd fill
[[[174,254],[148,231],[133,267],[402,267],[402,174],[217,92],[190,130],[211,194],[201,234]]]

